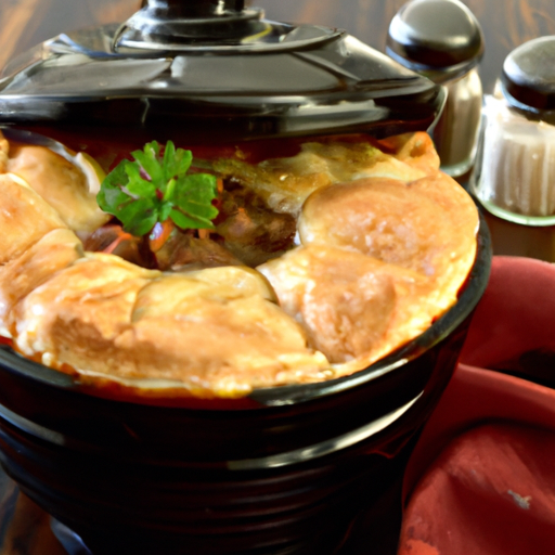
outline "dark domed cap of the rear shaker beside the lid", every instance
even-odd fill
[[[480,61],[483,35],[459,0],[411,0],[392,18],[387,53],[436,81],[464,75]]]

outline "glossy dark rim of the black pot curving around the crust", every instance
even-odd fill
[[[332,378],[325,382],[259,388],[251,391],[245,398],[217,398],[215,400],[191,398],[197,401],[197,403],[194,404],[199,403],[199,406],[189,406],[186,401],[190,400],[190,398],[186,397],[183,398],[184,402],[182,404],[180,403],[178,406],[221,410],[227,408],[253,409],[255,406],[292,405],[340,393],[341,391],[372,382],[403,366],[448,337],[472,314],[481,298],[488,283],[492,257],[489,231],[481,214],[477,243],[477,253],[473,268],[461,289],[456,304],[434,322],[423,334],[366,369],[354,372],[348,376]],[[83,390],[77,376],[65,374],[33,360],[25,359],[23,356],[16,353],[9,345],[0,344],[0,365],[47,386],[72,390],[72,392],[79,395],[92,395],[91,391]],[[126,399],[112,399],[104,396],[98,397],[114,402],[153,404],[147,399],[143,399],[140,396],[128,396]],[[212,401],[216,401],[218,406],[212,405]],[[158,403],[155,402],[154,404]]]

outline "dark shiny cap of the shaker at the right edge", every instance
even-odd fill
[[[555,36],[529,40],[503,64],[501,86],[509,104],[555,120]]]

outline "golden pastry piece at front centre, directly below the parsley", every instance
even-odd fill
[[[117,376],[179,380],[197,395],[219,397],[295,383],[292,376],[298,383],[321,380],[328,361],[266,298],[266,280],[259,276],[256,286],[253,272],[240,278],[247,283],[217,283],[205,275],[214,270],[219,269],[165,275],[140,293],[133,326],[118,339],[128,354]],[[129,353],[140,359],[130,364]]]

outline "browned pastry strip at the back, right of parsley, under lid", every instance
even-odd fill
[[[420,142],[413,140],[417,146],[413,144],[412,147],[403,150],[400,143],[392,143],[384,147],[389,149],[391,154],[370,142],[336,140],[304,143],[301,152],[296,156],[272,158],[256,166],[237,159],[222,159],[216,163],[215,168],[222,176],[256,191],[273,210],[297,216],[302,203],[312,192],[332,183],[366,177],[413,181],[430,171],[437,171],[439,160],[437,167],[431,160],[426,164],[414,163],[416,158],[427,154],[430,147],[434,152],[429,138],[426,140],[424,137],[425,133],[415,135],[420,138]],[[396,155],[402,159],[398,159]]]

